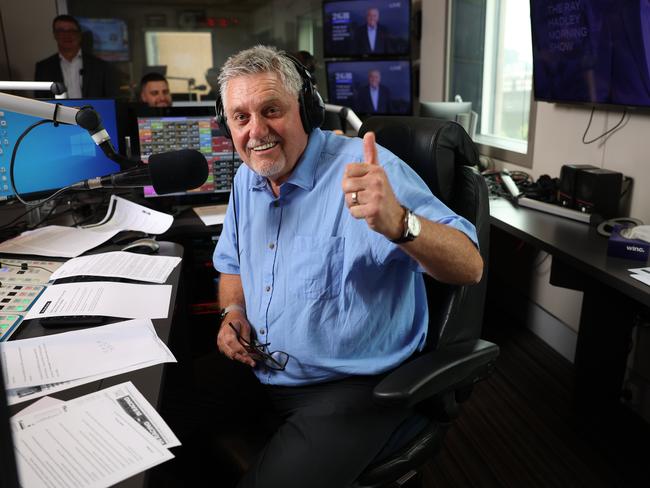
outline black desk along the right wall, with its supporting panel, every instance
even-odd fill
[[[574,360],[576,414],[600,417],[618,409],[630,334],[650,309],[650,287],[627,270],[646,264],[608,257],[607,238],[596,227],[502,198],[490,200],[490,222],[551,254],[552,285],[584,292]]]

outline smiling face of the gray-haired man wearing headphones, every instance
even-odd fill
[[[235,149],[258,175],[280,185],[307,146],[297,97],[275,73],[231,79],[225,111]]]

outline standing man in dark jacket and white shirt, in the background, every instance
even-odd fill
[[[68,98],[111,98],[117,95],[113,67],[81,49],[81,26],[71,15],[59,15],[52,22],[58,52],[36,63],[34,80],[58,81],[66,86]],[[48,92],[37,97],[51,98]]]

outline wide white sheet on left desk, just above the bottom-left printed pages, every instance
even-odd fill
[[[150,320],[131,320],[0,346],[8,389],[70,381],[165,360],[169,350]]]

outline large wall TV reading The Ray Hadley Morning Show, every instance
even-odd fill
[[[530,13],[537,100],[650,107],[645,0],[531,0]]]

